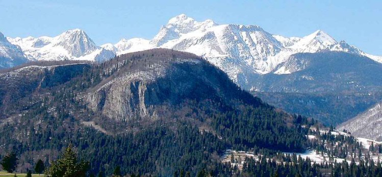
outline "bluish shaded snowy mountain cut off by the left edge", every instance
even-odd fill
[[[21,48],[11,44],[0,32],[0,68],[13,67],[26,61]]]

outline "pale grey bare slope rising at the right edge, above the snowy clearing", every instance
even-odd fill
[[[339,130],[347,130],[354,136],[382,140],[382,102],[374,105],[364,113],[342,123]]]

